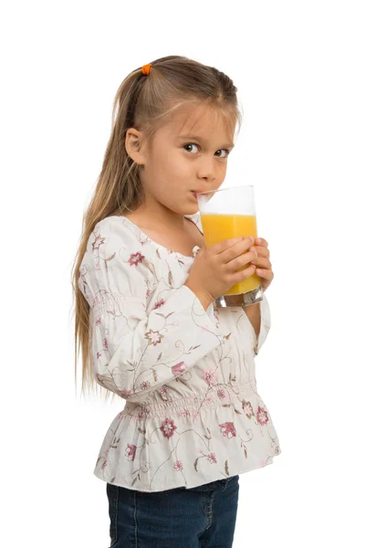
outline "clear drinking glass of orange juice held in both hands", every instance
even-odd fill
[[[255,195],[252,184],[197,193],[206,247],[230,237],[257,237]],[[246,269],[245,265],[239,270]],[[237,270],[238,271],[238,270]],[[249,306],[263,300],[261,279],[253,274],[215,300],[216,306]]]

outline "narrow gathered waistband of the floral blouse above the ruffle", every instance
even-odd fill
[[[243,413],[242,405],[250,395],[257,395],[255,379],[242,385],[232,385],[232,387],[227,387],[227,385],[212,386],[203,394],[171,398],[170,400],[162,399],[161,402],[130,402],[127,400],[120,416],[139,419],[153,416],[190,416],[194,418],[199,415],[202,409],[218,406],[232,406]]]

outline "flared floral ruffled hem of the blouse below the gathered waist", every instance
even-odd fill
[[[99,451],[94,475],[130,490],[187,489],[272,464],[281,454],[266,406],[252,392],[200,416],[116,416]],[[242,396],[242,392],[240,394]],[[166,410],[167,411],[167,410]],[[251,413],[252,412],[252,413]]]

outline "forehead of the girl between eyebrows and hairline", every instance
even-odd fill
[[[164,130],[169,138],[194,135],[205,141],[212,137],[232,140],[235,124],[232,114],[214,106],[184,105],[173,113]]]

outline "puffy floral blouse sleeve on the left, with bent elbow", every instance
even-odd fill
[[[90,305],[93,374],[128,401],[145,399],[223,343],[193,291],[173,288],[171,271],[160,273],[145,255],[120,218],[107,217],[89,237],[78,279]]]

